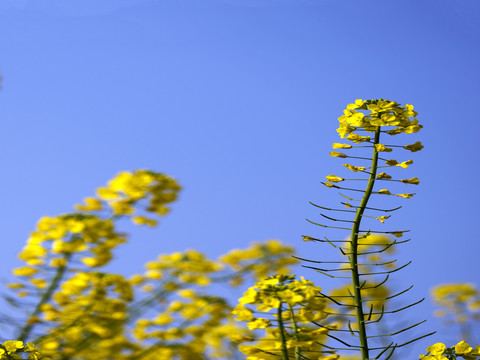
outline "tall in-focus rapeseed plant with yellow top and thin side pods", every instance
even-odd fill
[[[304,260],[315,264],[307,267],[330,278],[351,279],[351,284],[346,287],[344,293],[323,296],[340,309],[340,311],[327,311],[330,317],[347,319],[343,322],[346,324],[345,328],[330,329],[330,332],[339,334],[332,338],[341,345],[332,346],[331,349],[360,351],[362,360],[370,359],[372,353],[375,353],[376,359],[382,357],[388,359],[396,348],[430,335],[426,334],[398,343],[395,335],[403,334],[420,325],[421,322],[387,334],[378,333],[372,327],[386,315],[397,314],[422,301],[401,308],[388,307],[388,300],[407,292],[410,288],[397,294],[390,294],[381,289],[385,289],[385,283],[390,274],[401,270],[409,263],[399,266],[396,265],[395,259],[387,261],[383,256],[391,252],[394,246],[409,241],[409,239],[400,240],[408,230],[379,229],[378,225],[385,226],[383,224],[388,223],[391,213],[400,207],[382,209],[370,205],[372,197],[389,196],[409,199],[415,195],[411,192],[393,190],[392,187],[397,184],[415,186],[420,181],[417,177],[397,177],[394,171],[409,167],[413,164],[413,160],[392,158],[391,153],[394,150],[405,151],[407,154],[417,152],[423,148],[423,145],[419,141],[408,145],[391,144],[390,140],[392,136],[414,134],[422,129],[422,125],[417,120],[417,112],[413,109],[413,105],[402,106],[395,101],[384,99],[358,99],[347,106],[338,119],[340,126],[337,129],[340,137],[346,142],[334,143],[333,151],[330,153],[335,158],[348,160],[348,163],[343,164],[345,174],[328,175],[327,181],[323,182],[327,188],[341,191],[340,195],[344,199],[341,203],[344,208],[313,204],[331,214],[345,214],[345,217],[322,213],[322,217],[330,223],[309,221],[323,229],[347,231],[349,235],[345,240],[327,236],[304,237],[305,241],[334,246],[344,258],[343,261],[337,262]],[[350,175],[352,173],[355,175]],[[357,185],[344,185],[347,183]],[[365,187],[358,184],[365,184]],[[360,197],[356,198],[355,194],[360,194]],[[337,224],[341,225],[337,226]],[[332,268],[332,264],[338,264],[339,267]],[[349,276],[341,276],[338,275],[339,273],[349,273]],[[378,279],[379,276],[384,278]],[[352,318],[355,320],[352,321]],[[352,335],[353,339],[339,338],[345,334]],[[389,339],[387,344],[378,341],[385,338]]]

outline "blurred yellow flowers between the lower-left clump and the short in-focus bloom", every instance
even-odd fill
[[[168,354],[167,358],[172,360],[203,359],[200,354],[205,353],[211,358],[228,358],[230,337],[238,340],[239,336],[249,339],[255,336],[233,323],[232,306],[226,299],[209,295],[208,286],[219,282],[238,286],[245,279],[257,279],[278,269],[288,273],[289,265],[297,262],[292,253],[292,247],[269,240],[247,249],[232,250],[217,261],[186,250],[160,255],[148,262],[146,271],[132,276],[130,283],[144,292],[146,297],[140,303],[155,299],[162,305],[152,316],[136,320],[132,334],[136,344],[142,345],[135,351],[137,355],[132,356],[148,358],[149,344],[153,341],[159,344],[155,353]]]

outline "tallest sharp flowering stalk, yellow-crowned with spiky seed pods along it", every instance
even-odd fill
[[[344,198],[349,200],[349,202],[342,202],[342,204],[345,205],[345,208],[347,209],[324,207],[313,204],[314,206],[322,210],[354,214],[353,220],[343,218],[340,219],[336,218],[335,216],[327,216],[321,214],[324,218],[330,221],[334,221],[336,223],[335,226],[320,224],[318,222],[313,222],[310,220],[308,221],[322,228],[348,230],[350,232],[350,236],[346,240],[330,240],[327,237],[325,237],[324,239],[319,239],[317,237],[311,236],[303,237],[303,240],[305,241],[328,243],[333,247],[339,249],[341,254],[347,257],[347,261],[342,262],[313,261],[307,259],[304,260],[311,263],[323,264],[321,267],[320,265],[306,267],[315,269],[321,274],[328,276],[329,278],[350,278],[351,285],[346,288],[346,293],[338,295],[331,294],[329,296],[324,294],[322,295],[326,299],[329,299],[330,301],[335,303],[337,306],[345,309],[345,311],[343,312],[335,312],[330,310],[327,311],[326,313],[332,319],[338,319],[344,323],[347,323],[348,317],[353,316],[356,318],[355,327],[352,326],[351,322],[348,320],[348,329],[331,329],[331,331],[339,331],[340,334],[350,333],[355,338],[358,338],[359,344],[353,345],[348,343],[348,340],[341,340],[337,337],[330,336],[331,338],[338,340],[342,345],[347,346],[346,348],[330,348],[332,350],[360,350],[362,360],[370,359],[370,352],[374,349],[379,351],[376,354],[375,359],[379,359],[381,356],[384,356],[384,359],[386,360],[390,356],[392,356],[393,351],[396,347],[406,345],[407,343],[419,339],[413,339],[403,344],[398,344],[390,340],[387,342],[388,345],[375,344],[372,347],[372,345],[369,344],[369,339],[371,338],[393,337],[396,334],[403,333],[404,331],[416,327],[421,322],[409,326],[405,329],[392,332],[390,334],[381,334],[378,332],[372,333],[372,330],[367,329],[367,325],[379,322],[384,317],[384,315],[397,313],[416,304],[409,304],[403,308],[390,311],[385,310],[387,301],[389,299],[401,295],[409,290],[407,289],[398,294],[390,295],[388,291],[384,289],[384,283],[388,280],[390,274],[404,268],[409,264],[407,263],[405,265],[394,268],[393,264],[396,260],[383,260],[382,256],[391,252],[391,247],[393,245],[408,241],[392,240],[388,235],[393,235],[398,238],[402,237],[403,234],[408,230],[380,231],[372,228],[372,220],[370,219],[373,219],[373,221],[379,221],[381,224],[384,224],[385,221],[388,220],[391,216],[387,214],[389,212],[398,210],[400,207],[397,207],[395,209],[378,209],[368,206],[370,197],[372,195],[390,195],[406,199],[411,198],[414,195],[412,193],[393,194],[388,189],[380,189],[375,191],[374,187],[376,182],[389,182],[390,184],[403,183],[411,185],[419,184],[420,181],[418,180],[418,178],[397,180],[393,179],[392,176],[387,174],[386,172],[377,174],[377,170],[379,167],[407,168],[413,163],[412,160],[397,161],[394,159],[384,159],[380,157],[380,154],[390,153],[393,151],[393,148],[403,148],[411,152],[416,152],[423,148],[423,145],[420,142],[404,146],[385,145],[380,142],[380,137],[382,133],[393,136],[402,133],[412,134],[420,131],[422,129],[422,126],[418,124],[418,120],[415,118],[416,116],[417,113],[413,111],[412,105],[401,106],[394,101],[383,99],[359,99],[356,100],[355,103],[349,104],[347,106],[347,109],[344,110],[344,115],[342,115],[338,119],[340,122],[340,126],[337,131],[340,134],[341,138],[346,138],[346,140],[353,142],[353,145],[348,143],[334,143],[333,149],[335,151],[332,151],[330,155],[342,159],[351,158],[355,161],[370,160],[370,167],[364,166],[362,164],[343,164],[343,166],[349,171],[359,174],[367,174],[368,178],[359,178],[358,176],[351,178],[348,175],[328,175],[326,176],[327,182],[323,184],[328,188],[339,189],[347,192],[360,192],[363,193],[363,196],[360,200],[355,200],[349,196],[340,194]],[[361,132],[362,134],[360,135],[358,134],[358,132]],[[365,135],[365,132],[372,135]],[[350,156],[346,153],[336,151],[337,149],[348,150],[352,148],[370,148],[372,150],[372,153],[369,157],[365,157]],[[385,161],[385,165],[379,166],[379,160]],[[358,189],[351,186],[344,187],[340,185],[340,183],[344,181],[355,181],[355,183],[359,183],[359,181],[366,181],[367,185],[365,189]],[[355,202],[358,202],[358,204],[355,204]],[[368,214],[365,214],[366,212],[368,212]],[[384,212],[385,214],[382,216],[375,216],[374,214],[376,212]],[[351,226],[337,226],[337,223],[350,223]],[[326,268],[328,264],[334,263],[340,263],[341,266],[339,268],[333,269]],[[344,271],[349,271],[350,277],[331,274],[332,272]],[[385,276],[385,278],[383,280],[376,279],[378,275]],[[419,302],[421,302],[422,300],[420,300]],[[373,340],[375,339],[372,339],[372,341]]]

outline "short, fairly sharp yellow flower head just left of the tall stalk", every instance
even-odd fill
[[[296,280],[294,275],[274,275],[257,282],[239,299],[233,314],[237,321],[246,321],[250,330],[263,329],[266,335],[252,345],[241,345],[247,360],[277,359],[282,351],[291,354],[318,352],[319,341],[327,332],[324,328],[300,326],[327,316],[321,289],[311,281]],[[248,307],[254,305],[254,309]],[[270,310],[276,313],[266,317]],[[260,316],[255,316],[258,312]],[[250,338],[238,342],[252,341]],[[318,356],[315,357],[315,359]]]

